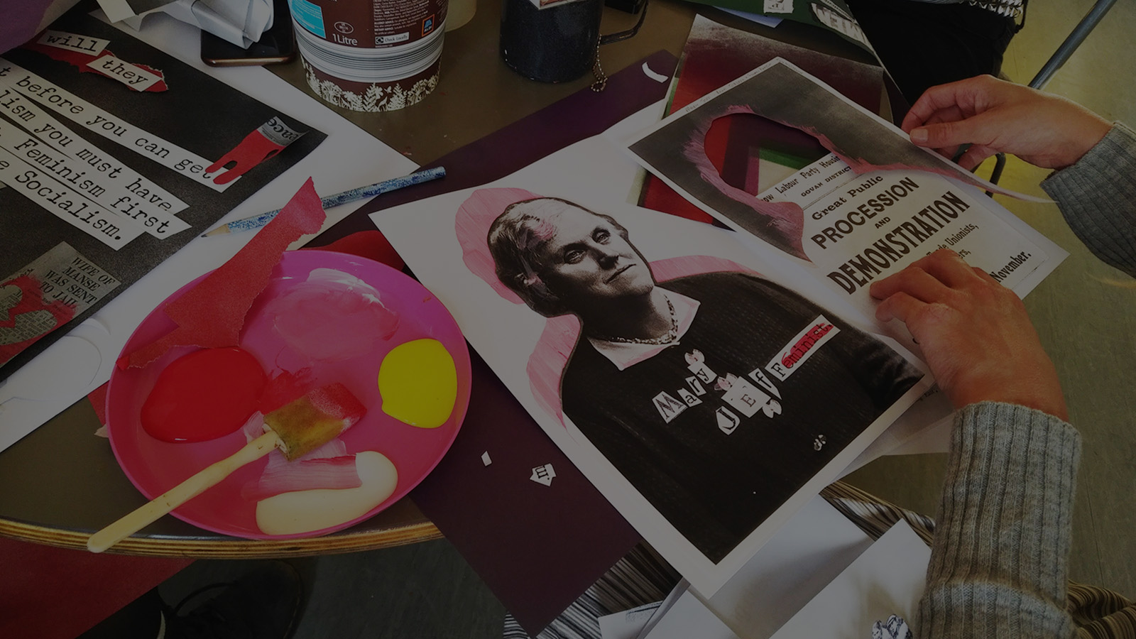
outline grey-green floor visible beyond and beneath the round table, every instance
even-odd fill
[[[1091,0],[1034,0],[1026,28],[1010,45],[1005,75],[1028,83],[1091,6]],[[1136,3],[1118,2],[1046,89],[1108,118],[1136,123],[1134,32]],[[1041,194],[1036,185],[1045,174],[1011,158],[1002,183]],[[1087,255],[1052,205],[1003,204],[1071,254],[1042,285],[1083,289],[1083,298],[1069,299],[1062,308],[1045,308],[1029,298],[1026,301],[1035,316],[1067,317],[1068,307],[1086,309],[1070,330],[1084,333],[1089,346],[1061,350],[1060,343],[1070,341],[1064,331],[1060,340],[1055,334],[1043,334],[1043,342],[1053,347],[1051,352],[1063,373],[1071,365],[1062,362],[1075,358],[1092,358],[1100,372],[1100,377],[1063,380],[1074,422],[1085,440],[1071,575],[1134,597],[1136,492],[1130,487],[1136,479],[1136,430],[1127,416],[1136,415],[1136,400],[1122,382],[1136,379],[1136,358],[1130,356],[1136,350],[1136,331],[1101,325],[1101,317],[1136,317],[1136,291],[1109,283],[1117,273]],[[1078,287],[1080,282],[1083,287]],[[1102,306],[1108,307],[1106,313],[1089,312]],[[1078,370],[1086,368],[1083,364]],[[934,513],[942,465],[942,455],[885,458],[858,471],[851,481],[902,506]],[[292,563],[304,575],[307,588],[298,639],[501,636],[503,608],[444,540]],[[244,562],[199,561],[162,584],[161,592],[167,600],[176,600],[202,583],[229,579],[248,566]]]

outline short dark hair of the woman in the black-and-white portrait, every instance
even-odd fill
[[[627,239],[627,229],[610,215],[595,213],[561,198],[520,200],[507,206],[501,215],[493,221],[487,241],[498,280],[501,280],[502,284],[520,296],[520,299],[525,300],[525,304],[533,310],[545,317],[554,317],[571,313],[573,309],[568,308],[556,293],[549,290],[549,287],[541,279],[541,273],[546,265],[541,263],[536,252],[544,240],[544,236],[537,231],[548,222],[550,214],[559,213],[562,208],[542,210],[542,207],[531,206],[542,201],[560,202],[605,219],[625,240]]]

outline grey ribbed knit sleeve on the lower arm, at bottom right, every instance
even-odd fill
[[[1039,410],[955,415],[917,639],[1072,637],[1066,580],[1080,437]]]

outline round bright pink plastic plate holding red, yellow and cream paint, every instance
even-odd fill
[[[162,307],[203,277],[190,282],[150,313],[131,335],[123,352],[132,352],[173,330],[174,324],[162,313]],[[396,322],[370,323],[367,322],[369,317],[352,317],[350,312],[344,312],[332,314],[329,318],[325,316],[326,321],[312,330],[301,331],[304,329],[302,305],[311,304],[304,298],[306,291],[317,291],[320,282],[326,281],[366,291],[368,296],[370,291],[376,292],[382,306],[393,314],[386,318],[393,317]],[[293,308],[295,314],[290,313]],[[377,384],[385,355],[401,343],[423,338],[435,339],[445,347],[458,376],[453,412],[444,424],[434,429],[416,428],[386,415],[382,410]],[[320,250],[285,252],[245,317],[240,346],[254,355],[269,375],[307,366],[317,385],[342,382],[349,387],[367,406],[367,414],[340,435],[346,454],[382,453],[394,464],[399,480],[394,492],[362,516],[311,532],[273,536],[257,526],[256,501],[241,495],[242,487],[256,482],[268,463],[267,458],[261,458],[173,512],[181,520],[222,534],[250,539],[316,537],[375,515],[403,497],[434,468],[457,437],[469,404],[469,351],[453,317],[417,281],[369,259]],[[193,347],[170,349],[147,366],[118,368],[110,379],[107,395],[110,443],[126,476],[149,499],[245,443],[241,430],[209,441],[172,443],[151,437],[142,428],[142,405],[158,375],[170,362],[193,350]]]

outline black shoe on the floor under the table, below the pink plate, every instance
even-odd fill
[[[209,591],[216,595],[179,614]],[[264,566],[227,583],[214,583],[190,594],[166,611],[167,639],[287,639],[300,620],[303,587],[284,562]]]

